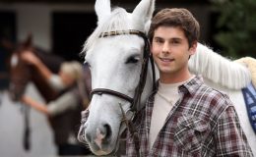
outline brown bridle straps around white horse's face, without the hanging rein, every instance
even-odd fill
[[[116,36],[116,35],[126,35],[126,34],[131,34],[131,35],[138,35],[140,37],[142,37],[144,39],[144,52],[143,52],[143,63],[142,63],[142,70],[141,70],[141,74],[140,74],[140,80],[138,82],[137,87],[135,88],[135,94],[134,97],[130,97],[126,94],[123,94],[119,91],[115,91],[112,89],[107,89],[107,88],[96,88],[93,89],[90,93],[90,97],[92,99],[94,94],[108,94],[108,95],[113,95],[119,98],[122,98],[128,102],[131,103],[131,111],[136,113],[139,110],[139,105],[141,102],[141,95],[146,83],[146,78],[147,78],[147,72],[148,72],[148,65],[149,65],[149,60],[151,60],[151,65],[152,65],[152,71],[153,71],[153,89],[156,88],[156,84],[155,84],[155,67],[154,67],[154,61],[153,61],[153,57],[150,53],[150,42],[148,37],[145,35],[144,32],[139,31],[139,30],[135,30],[135,29],[128,29],[128,30],[116,30],[116,31],[110,31],[110,32],[102,32],[99,37],[107,37],[107,36]]]

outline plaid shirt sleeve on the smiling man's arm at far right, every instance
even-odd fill
[[[220,116],[216,131],[217,156],[253,157],[247,138],[232,106],[228,106]]]

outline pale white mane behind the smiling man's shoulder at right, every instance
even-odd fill
[[[190,58],[189,69],[196,75],[232,89],[241,89],[251,81],[245,66],[231,62],[202,44],[198,44],[196,54]]]

